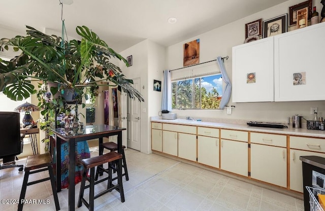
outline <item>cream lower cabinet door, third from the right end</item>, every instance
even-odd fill
[[[221,139],[221,169],[247,177],[248,144]]]

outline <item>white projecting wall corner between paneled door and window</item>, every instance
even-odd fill
[[[150,117],[157,116],[161,107],[161,92],[153,91],[153,80],[163,80],[163,69],[166,66],[165,48],[152,41],[145,40],[120,53],[124,58],[132,55],[132,66],[119,67],[128,79],[141,78],[141,152],[151,153]]]

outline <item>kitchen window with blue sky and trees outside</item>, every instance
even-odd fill
[[[221,74],[172,81],[173,109],[218,109],[221,97]]]

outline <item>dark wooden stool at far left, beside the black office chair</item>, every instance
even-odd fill
[[[21,192],[20,192],[18,211],[22,210],[23,200],[25,198],[27,186],[41,183],[41,182],[44,182],[47,180],[51,180],[55,208],[56,208],[56,210],[60,210],[59,200],[57,198],[57,193],[56,193],[53,168],[52,168],[52,158],[51,158],[50,153],[28,156],[26,159],[26,164],[25,164],[24,170],[25,170],[24,181],[22,183],[22,188],[21,188]],[[41,180],[36,180],[36,181],[32,181],[32,182],[28,183],[29,174],[38,173],[38,172],[46,171],[46,170],[48,170],[49,174],[50,174],[50,176],[48,178],[43,178]]]

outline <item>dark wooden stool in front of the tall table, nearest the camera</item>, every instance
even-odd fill
[[[124,191],[123,191],[123,184],[122,184],[122,175],[121,172],[121,159],[122,155],[117,152],[110,152],[105,155],[100,155],[96,157],[86,158],[81,160],[81,164],[84,167],[83,177],[80,186],[80,193],[79,193],[79,200],[78,200],[78,207],[81,207],[82,203],[86,205],[89,211],[93,211],[94,209],[94,199],[111,192],[112,190],[117,190],[120,193],[121,202],[124,202]],[[103,168],[101,165],[104,163],[109,163],[108,169]],[[110,164],[115,163],[117,168],[117,185],[112,184],[112,168],[110,168]],[[95,181],[95,167],[101,168],[101,170],[108,173],[108,177]],[[88,177],[87,172],[90,169],[90,175]],[[86,180],[89,182],[89,185],[85,186]],[[108,180],[107,189],[97,195],[94,195],[94,185],[99,184]],[[84,199],[83,194],[84,190],[89,188],[89,203]]]

